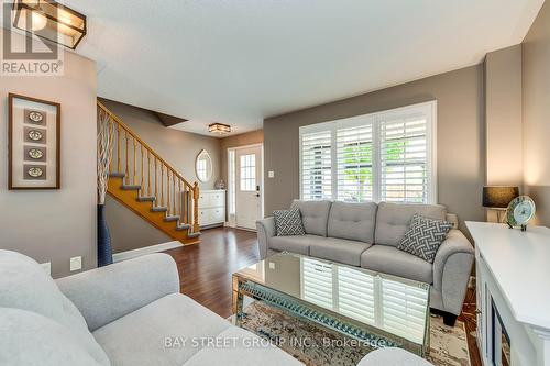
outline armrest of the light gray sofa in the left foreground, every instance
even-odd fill
[[[56,280],[95,331],[166,295],[179,292],[179,276],[167,254],[150,254]]]

